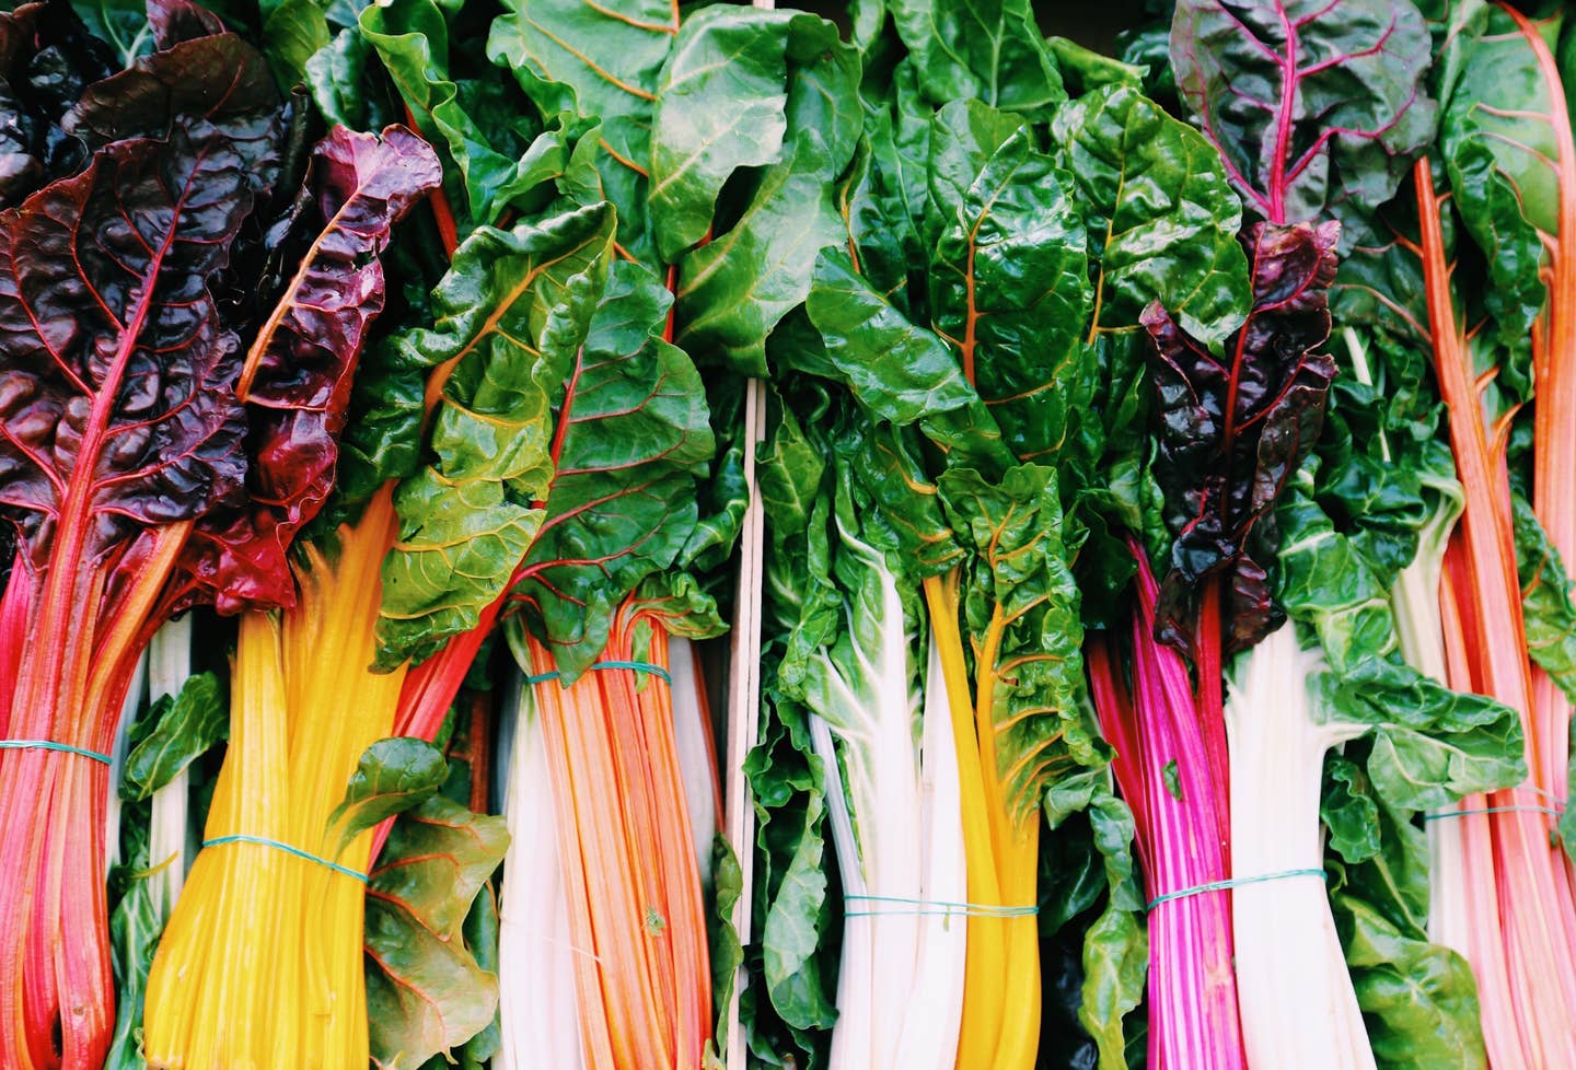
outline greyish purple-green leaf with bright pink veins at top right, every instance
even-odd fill
[[[1308,222],[1382,205],[1434,136],[1411,0],[1179,0],[1177,88],[1248,206]]]

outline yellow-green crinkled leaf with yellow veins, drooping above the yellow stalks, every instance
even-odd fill
[[[553,477],[552,400],[586,340],[611,252],[608,205],[482,227],[435,290],[433,325],[392,340],[408,364],[457,364],[432,460],[394,498],[400,534],[383,561],[378,622],[386,663],[476,627],[525,558]]]

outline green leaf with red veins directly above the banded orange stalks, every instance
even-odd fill
[[[667,288],[619,262],[556,407],[547,518],[515,588],[572,679],[607,645],[635,586],[693,531],[695,484],[712,455],[700,373],[662,340]]]

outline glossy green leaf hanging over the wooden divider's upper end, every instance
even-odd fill
[[[738,222],[679,265],[675,340],[697,361],[722,361],[744,375],[766,373],[766,336],[805,299],[820,251],[846,235],[832,180],[853,159],[864,120],[859,57],[838,39],[837,27],[796,14],[774,24],[774,47],[783,49],[786,60],[782,161],[760,172]],[[686,113],[697,107],[704,106],[686,104]],[[670,124],[682,129],[686,123]],[[659,148],[662,137],[659,132]],[[660,156],[652,164],[651,211],[660,221],[668,208],[657,197],[656,159]],[[703,200],[709,222],[714,197]]]

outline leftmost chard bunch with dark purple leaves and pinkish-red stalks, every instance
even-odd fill
[[[0,214],[0,860],[25,889],[0,911],[0,1045],[6,1065],[98,1067],[104,887],[72,875],[104,870],[99,756],[172,611],[290,597],[284,548],[328,493],[381,309],[375,255],[430,153],[336,134],[292,211],[304,117],[214,16],[151,3],[154,50],[118,74],[65,5],[3,19],[13,72],[44,49],[79,63]]]

